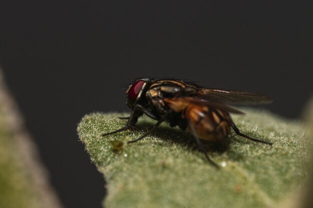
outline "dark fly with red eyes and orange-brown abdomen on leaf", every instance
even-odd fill
[[[133,143],[153,132],[162,122],[170,127],[178,126],[188,130],[194,137],[197,147],[206,159],[218,167],[207,155],[201,140],[223,142],[230,137],[230,130],[246,139],[267,145],[262,141],[242,134],[233,123],[230,113],[243,114],[230,104],[267,104],[272,100],[262,94],[204,88],[191,82],[175,79],[139,78],[129,85],[127,106],[132,110],[127,124],[116,131],[103,134],[107,136],[134,127],[138,117],[143,114],[156,120],[156,124],[139,138],[128,141]]]

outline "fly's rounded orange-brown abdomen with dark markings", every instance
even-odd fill
[[[184,116],[202,140],[222,141],[230,134],[230,121],[226,112],[207,106],[189,105]],[[191,132],[190,126],[187,128]]]

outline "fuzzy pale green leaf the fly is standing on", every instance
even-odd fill
[[[303,125],[266,111],[244,109],[233,120],[240,131],[270,141],[255,143],[234,133],[226,148],[207,144],[219,170],[199,152],[191,134],[163,124],[143,140],[116,150],[112,141],[138,138],[155,121],[139,119],[141,130],[102,137],[125,125],[119,113],[92,113],[77,131],[107,182],[106,208],[275,207],[304,183],[310,141]],[[114,144],[114,143],[113,143]],[[119,143],[116,143],[119,144]],[[120,146],[118,146],[120,147]]]

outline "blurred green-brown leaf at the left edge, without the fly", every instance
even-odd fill
[[[0,208],[61,208],[1,70]]]

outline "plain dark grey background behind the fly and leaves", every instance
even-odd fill
[[[298,118],[312,95],[311,1],[0,3],[0,65],[67,208],[100,208],[104,182],[76,136],[94,111],[126,111],[140,76],[254,91]]]

